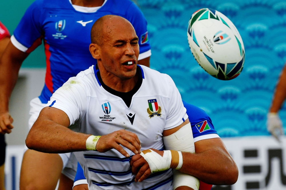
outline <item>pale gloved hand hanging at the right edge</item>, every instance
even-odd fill
[[[277,113],[267,114],[267,130],[280,142],[278,136],[283,135],[282,122]]]

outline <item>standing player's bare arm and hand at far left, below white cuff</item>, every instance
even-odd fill
[[[18,79],[23,60],[29,55],[17,49],[9,40],[0,57],[0,133],[10,133],[13,119],[9,114],[9,99]]]

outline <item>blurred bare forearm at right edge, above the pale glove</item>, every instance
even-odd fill
[[[270,112],[278,112],[286,98],[286,66],[284,67],[279,82],[276,86]]]

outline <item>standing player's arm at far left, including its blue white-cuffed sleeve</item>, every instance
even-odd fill
[[[0,133],[10,133],[13,119],[9,114],[9,99],[25,58],[41,44],[41,8],[37,0],[27,9],[0,58]]]

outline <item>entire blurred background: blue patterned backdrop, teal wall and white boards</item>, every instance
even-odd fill
[[[32,2],[0,1],[0,20],[11,34]],[[135,3],[148,21],[151,68],[169,74],[182,99],[210,115],[219,136],[238,164],[238,182],[233,186],[214,186],[213,189],[286,189],[283,172],[286,173],[286,157],[283,156],[286,139],[279,144],[266,129],[266,114],[286,60],[286,1],[137,0]],[[188,20],[194,11],[205,7],[229,17],[243,39],[245,68],[234,80],[220,81],[208,75],[188,47]],[[45,55],[41,45],[23,63],[11,98],[15,129],[6,135],[7,189],[18,187],[29,101],[40,94],[44,68]],[[279,115],[286,126],[285,104]]]

